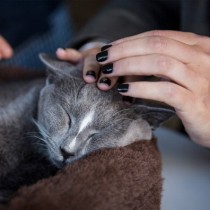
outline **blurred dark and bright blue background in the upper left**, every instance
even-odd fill
[[[38,54],[55,53],[58,47],[66,47],[105,2],[1,0],[0,38],[8,42],[14,54],[10,59],[1,59],[0,68],[42,69]]]

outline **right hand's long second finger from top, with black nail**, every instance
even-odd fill
[[[154,36],[114,45],[108,50],[97,54],[96,59],[98,62],[106,64],[126,57],[163,54],[180,60],[183,63],[190,63],[199,60],[198,56],[202,55],[202,53],[199,53],[185,43],[166,37]]]

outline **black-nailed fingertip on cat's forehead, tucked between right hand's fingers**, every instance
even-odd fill
[[[117,83],[118,77],[111,77],[108,78],[105,75],[100,75],[98,79],[97,86],[100,90],[110,90],[113,88]]]

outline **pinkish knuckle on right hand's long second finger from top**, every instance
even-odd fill
[[[152,36],[148,38],[148,44],[155,52],[162,52],[167,47],[166,38],[161,36]]]

